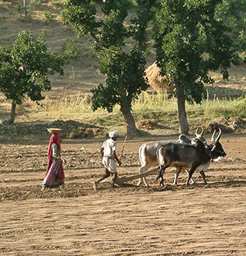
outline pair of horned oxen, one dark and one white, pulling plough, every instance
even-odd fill
[[[199,130],[201,131],[199,133]],[[192,179],[192,174],[196,171],[203,177],[204,184],[206,184],[206,175],[204,170],[210,166],[211,160],[216,160],[219,157],[226,156],[222,145],[220,144],[221,130],[218,132],[215,129],[211,137],[211,143],[207,143],[203,137],[204,129],[199,127],[196,129],[196,137],[194,139],[187,138],[186,135],[179,135],[178,140],[175,142],[149,142],[143,144],[139,149],[139,158],[141,167],[140,173],[147,171],[150,167],[156,167],[159,173],[157,181],[160,180],[161,186],[164,185],[163,174],[168,167],[175,167],[175,180],[177,184],[178,175],[181,170],[185,170],[188,174],[186,185],[189,185]],[[218,133],[218,134],[217,134]],[[215,135],[217,137],[215,138]],[[138,185],[147,184],[147,178],[142,177]]]

